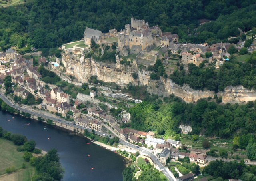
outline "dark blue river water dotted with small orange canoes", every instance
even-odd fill
[[[122,181],[124,158],[94,143],[86,144],[89,140],[84,137],[4,111],[0,111],[0,127],[35,140],[42,150],[56,148],[65,169],[64,181]]]

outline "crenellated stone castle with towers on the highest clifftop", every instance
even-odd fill
[[[139,46],[144,50],[147,46],[153,44],[152,32],[145,20],[134,20],[131,18],[131,24],[125,25],[125,30],[121,30],[118,34],[118,46]]]

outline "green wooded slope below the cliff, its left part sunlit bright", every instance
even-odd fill
[[[180,133],[180,124],[190,125],[191,134],[222,138],[255,133],[254,102],[249,101],[246,105],[220,105],[219,98],[216,98],[216,102],[209,98],[200,99],[196,103],[184,103],[174,95],[164,97],[163,101],[143,101],[130,108],[131,126],[134,129],[157,131],[167,135]]]

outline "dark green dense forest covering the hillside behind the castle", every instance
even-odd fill
[[[0,8],[0,47],[28,51],[82,38],[86,26],[108,32],[130,18],[158,24],[187,42],[214,42],[256,26],[256,0],[27,0]],[[150,12],[150,13],[149,13]],[[199,25],[199,19],[216,20]],[[28,46],[26,46],[28,45]],[[25,47],[26,46],[26,47]]]

